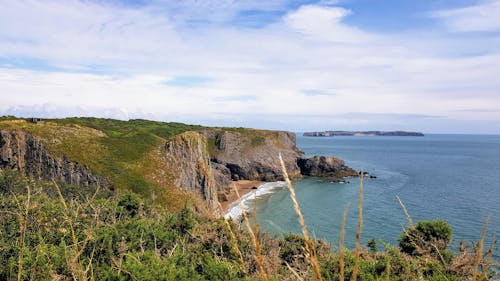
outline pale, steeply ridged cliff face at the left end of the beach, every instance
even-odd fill
[[[212,168],[206,147],[204,135],[197,132],[182,133],[165,144],[166,161],[174,171],[176,186],[200,194],[212,207],[216,207],[217,185],[214,175],[220,177],[224,172]]]

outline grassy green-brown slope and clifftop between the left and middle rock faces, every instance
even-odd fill
[[[65,157],[111,180],[119,191],[155,196],[160,203],[180,207],[181,192],[162,159],[165,142],[201,126],[148,120],[99,118],[0,119],[0,130],[21,130],[42,140],[55,157]]]

